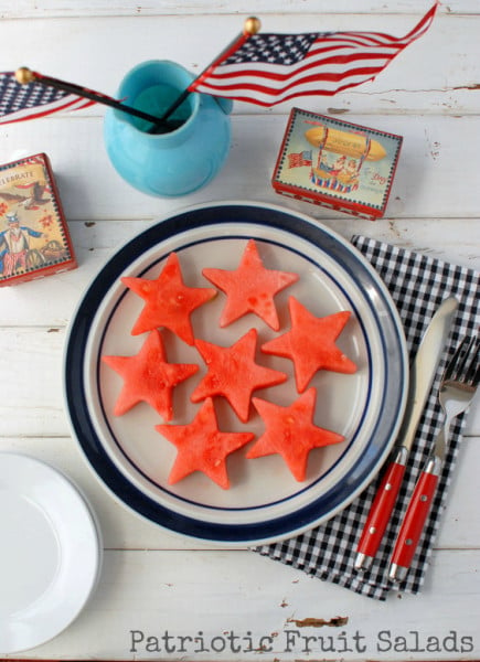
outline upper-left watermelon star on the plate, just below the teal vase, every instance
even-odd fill
[[[183,282],[175,253],[169,255],[156,280],[126,276],[121,282],[146,301],[131,330],[132,335],[164,327],[190,345],[194,342],[191,313],[216,295],[214,288],[188,287]]]

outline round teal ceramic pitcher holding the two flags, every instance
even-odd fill
[[[193,81],[174,62],[137,65],[120,84],[119,99],[161,117]],[[192,193],[221,170],[231,145],[232,102],[192,93],[169,117],[169,129],[118,109],[105,114],[106,150],[117,172],[132,186],[159,196]]]

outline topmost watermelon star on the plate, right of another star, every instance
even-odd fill
[[[254,239],[248,241],[237,269],[203,269],[202,274],[227,296],[220,318],[222,328],[253,312],[274,331],[280,328],[274,297],[299,278],[297,274],[266,269]]]

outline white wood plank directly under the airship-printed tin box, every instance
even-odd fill
[[[386,218],[422,218],[422,223],[429,220],[435,224],[437,218],[478,217],[478,175],[474,166],[468,164],[476,163],[479,151],[480,116],[349,115],[349,120],[404,137]],[[70,221],[153,220],[212,200],[257,200],[291,206],[290,200],[270,185],[286,126],[287,118],[279,115],[234,116],[232,149],[223,170],[212,184],[179,199],[151,197],[120,179],[104,150],[100,118],[72,114],[68,118],[0,127],[0,153],[8,162],[46,151]],[[23,146],[21,151],[19,146]],[[360,226],[353,217],[318,205],[300,202],[292,209],[322,221],[349,218],[353,232]],[[374,233],[386,224],[384,220],[363,227]],[[478,223],[470,224],[468,235],[459,229],[455,244],[470,243],[471,252],[477,252]],[[113,238],[115,242],[115,235]],[[435,233],[431,241],[436,241]]]

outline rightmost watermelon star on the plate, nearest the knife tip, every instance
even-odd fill
[[[330,370],[354,373],[356,365],[335,344],[349,321],[350,311],[342,310],[323,318],[314,317],[297,299],[289,302],[291,329],[262,345],[266,354],[285,356],[294,362],[298,393],[303,393],[314,373]]]

